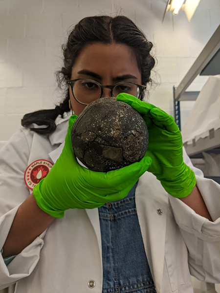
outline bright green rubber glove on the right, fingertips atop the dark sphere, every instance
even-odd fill
[[[196,185],[196,176],[183,162],[182,135],[174,118],[129,94],[119,94],[116,100],[137,110],[148,127],[149,144],[145,155],[152,158],[148,171],[156,176],[170,195],[188,196]]]

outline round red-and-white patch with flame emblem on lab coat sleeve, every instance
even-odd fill
[[[37,160],[31,163],[24,172],[24,182],[26,186],[33,188],[48,174],[53,164],[46,160]]]

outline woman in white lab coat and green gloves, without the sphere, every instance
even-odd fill
[[[58,72],[65,101],[25,115],[1,151],[0,289],[191,293],[190,274],[220,282],[220,186],[193,167],[173,117],[141,101],[151,48],[123,16],[88,17],[70,33]],[[70,131],[119,82],[133,86],[117,100],[143,116],[148,150],[140,162],[93,172],[78,164]]]

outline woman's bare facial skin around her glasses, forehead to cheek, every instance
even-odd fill
[[[94,43],[86,46],[72,67],[71,80],[87,78],[103,85],[119,82],[141,84],[141,72],[131,48],[123,44]],[[74,114],[79,115],[86,105],[78,103],[69,86]],[[103,97],[110,97],[110,89],[103,89]]]

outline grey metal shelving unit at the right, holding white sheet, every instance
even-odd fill
[[[198,75],[217,75],[220,74],[220,25],[199,54],[197,60],[193,63],[185,77],[177,87],[173,87],[174,98],[174,118],[179,130],[180,123],[180,102],[196,101],[199,92],[186,91],[188,86],[194,81]],[[197,142],[193,140],[193,144],[184,144],[186,152],[190,158],[203,158],[202,152],[214,152],[220,154],[220,128],[216,131],[209,130],[209,136],[200,138]],[[220,183],[220,177],[208,177]]]

